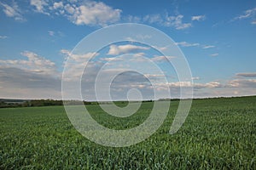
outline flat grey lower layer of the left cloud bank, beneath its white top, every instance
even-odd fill
[[[0,65],[3,98],[61,99],[61,79],[16,67]]]

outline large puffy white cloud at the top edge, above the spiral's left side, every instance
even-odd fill
[[[68,18],[76,25],[106,26],[120,20],[121,10],[102,2],[86,2],[80,6],[65,6]]]

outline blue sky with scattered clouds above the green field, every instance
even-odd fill
[[[179,80],[175,66],[168,62],[179,56],[160,53],[168,46],[154,48],[127,37],[125,42],[98,51],[73,53],[92,32],[123,23],[152,26],[171,37],[188,62],[190,80]],[[115,32],[108,35],[115,36]],[[79,71],[87,65],[81,79],[85,100],[96,99],[96,77],[101,71],[104,76],[97,89],[102,100],[108,100],[105,88],[110,88],[113,100],[168,98],[169,90],[172,98],[179,98],[180,88],[194,88],[195,98],[255,95],[255,37],[256,1],[251,0],[2,0],[0,98],[61,99],[62,72],[68,59],[74,61],[66,70],[73,78],[81,77]],[[97,41],[102,40],[92,45]],[[103,86],[113,72],[119,75],[110,86]],[[76,88],[73,80],[67,81],[70,89]],[[157,98],[153,89],[159,92]],[[70,95],[70,99],[77,98]]]

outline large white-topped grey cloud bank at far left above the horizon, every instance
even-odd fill
[[[61,99],[61,73],[55,63],[29,51],[27,59],[0,59],[4,98]]]

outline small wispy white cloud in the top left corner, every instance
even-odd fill
[[[3,6],[3,12],[8,17],[13,17],[15,20],[24,21],[25,19],[21,15],[20,8],[18,7],[17,3],[13,3],[12,6],[9,6],[6,3],[0,3]]]

